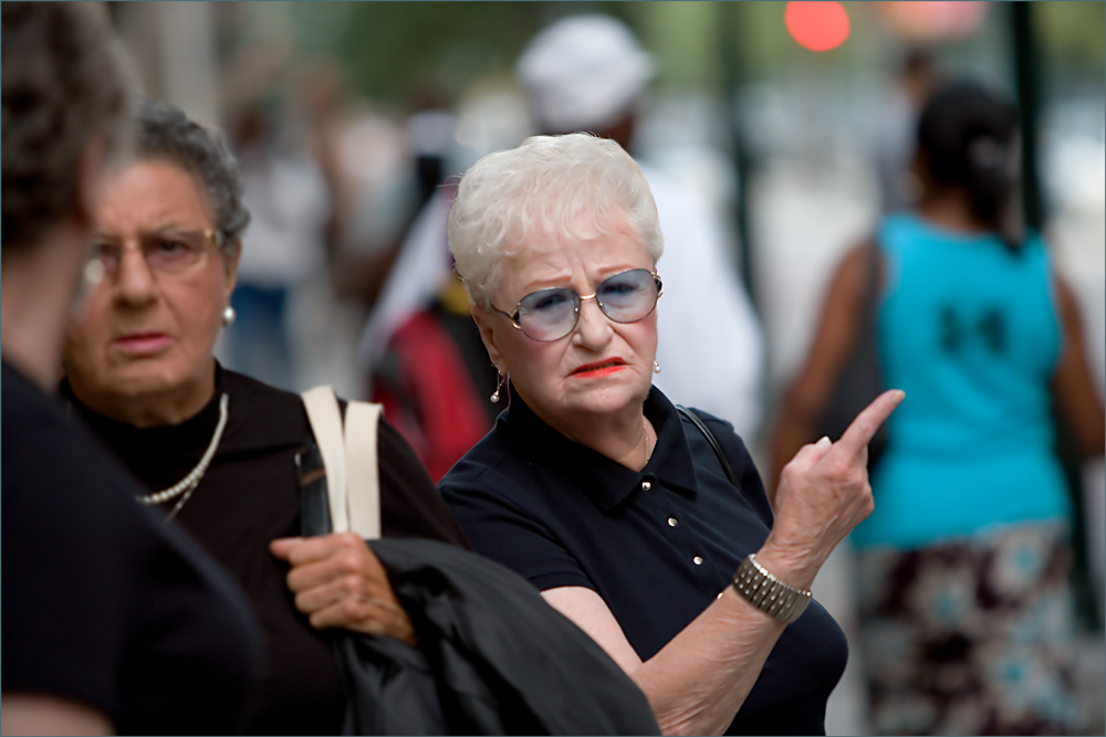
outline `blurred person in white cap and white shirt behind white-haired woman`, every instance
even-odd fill
[[[630,150],[656,63],[622,22],[574,15],[538,33],[515,64],[544,134],[577,130]],[[761,419],[764,348],[718,217],[664,172],[638,162],[657,202],[668,298],[658,309],[661,373],[654,381],[752,438]],[[709,316],[703,294],[710,294]]]

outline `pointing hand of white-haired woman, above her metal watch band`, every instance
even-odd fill
[[[780,474],[775,524],[758,561],[796,588],[808,589],[822,564],[872,514],[868,441],[905,393],[885,391],[860,412],[836,443],[804,445]]]

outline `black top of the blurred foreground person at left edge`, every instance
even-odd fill
[[[83,702],[121,734],[240,731],[261,667],[246,598],[56,401],[2,380],[4,693]]]

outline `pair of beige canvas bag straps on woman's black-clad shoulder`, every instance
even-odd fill
[[[303,406],[326,468],[331,529],[380,537],[380,475],[376,450],[379,404],[349,402],[345,428],[331,387],[304,391]]]

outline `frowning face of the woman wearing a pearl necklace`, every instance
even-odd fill
[[[94,233],[108,267],[66,331],[74,391],[101,411],[105,401],[202,392],[237,259],[213,242],[197,179],[166,161],[127,165],[105,183]]]

